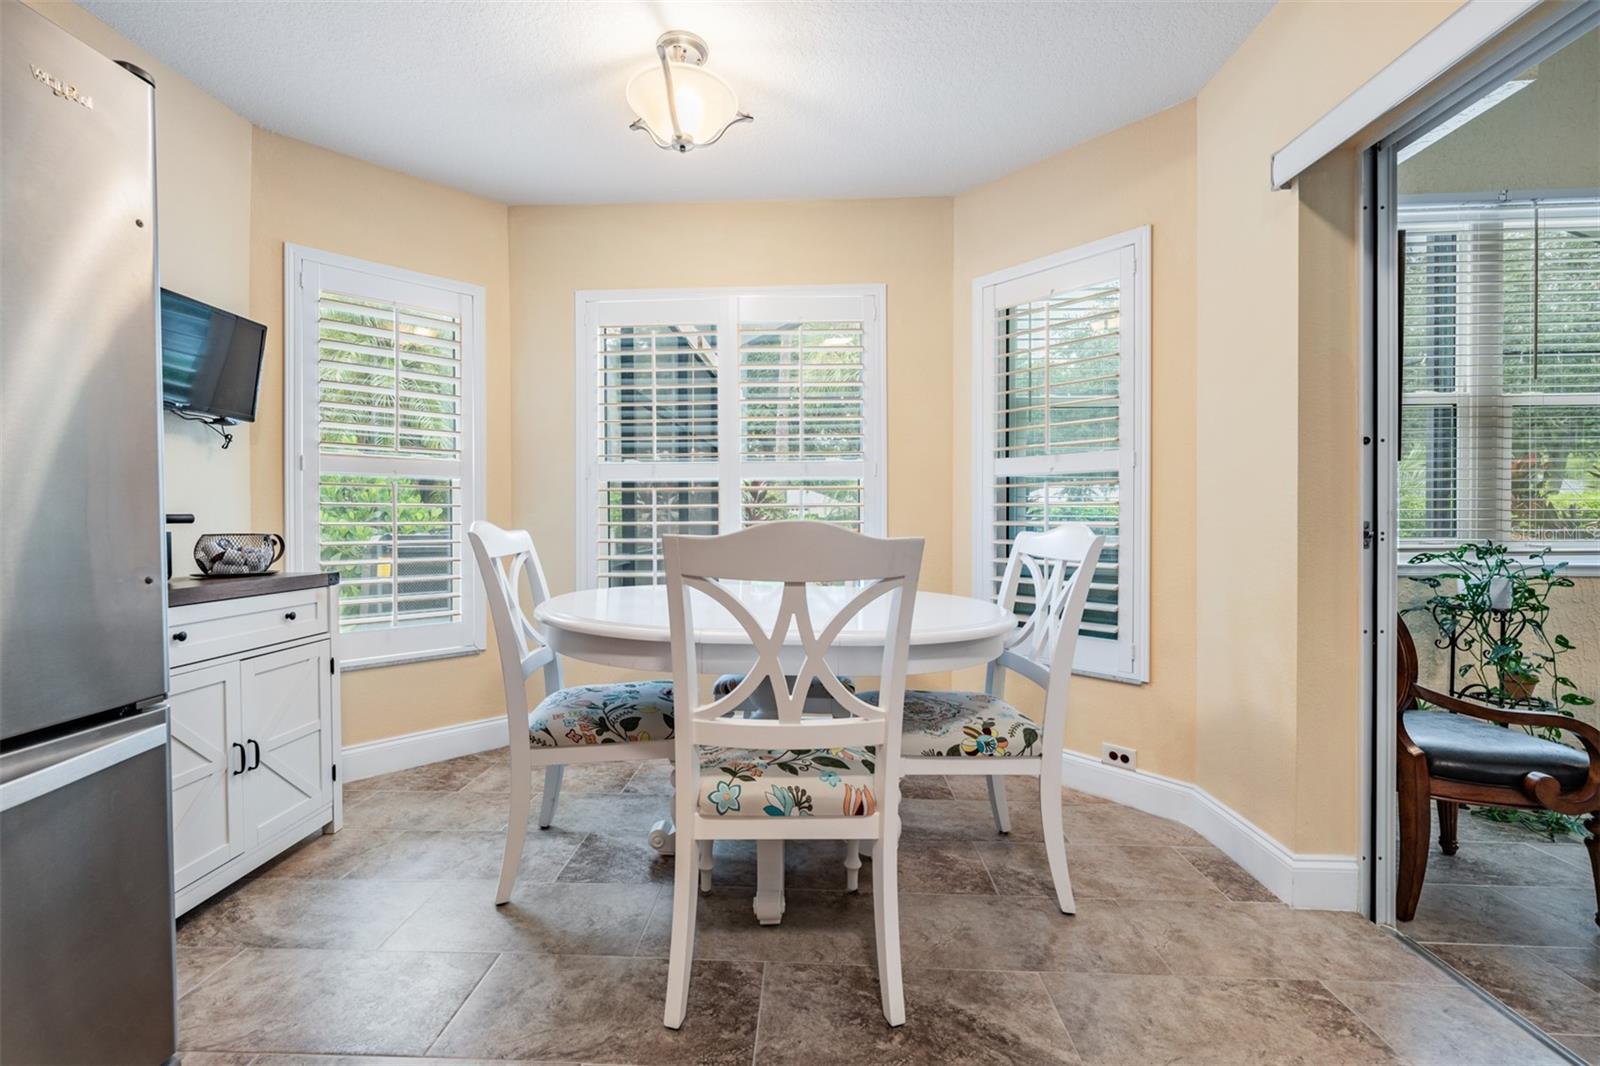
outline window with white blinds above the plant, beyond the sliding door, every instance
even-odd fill
[[[1403,559],[1600,551],[1600,198],[1402,205]]]

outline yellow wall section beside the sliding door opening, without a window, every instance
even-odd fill
[[[1267,160],[1454,6],[1280,3],[1197,101],[1194,779],[1301,853],[1360,837],[1357,168]]]

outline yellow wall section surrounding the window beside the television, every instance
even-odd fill
[[[283,528],[283,245],[298,243],[485,288],[486,506],[510,517],[510,285],[506,206],[264,130],[254,133],[250,309],[269,327],[253,431],[256,522]],[[293,536],[293,533],[290,533]],[[504,707],[483,655],[344,674],[344,743],[469,722]]]

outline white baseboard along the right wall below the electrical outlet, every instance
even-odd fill
[[[1197,784],[1107,767],[1074,751],[1061,754],[1061,779],[1080,792],[1189,826],[1290,906],[1360,909],[1362,871],[1354,855],[1296,855]]]

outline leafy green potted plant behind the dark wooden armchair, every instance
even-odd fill
[[[1550,594],[1573,587],[1573,579],[1562,573],[1565,562],[1552,562],[1547,551],[1515,555],[1491,541],[1421,552],[1410,562],[1432,570],[1410,578],[1432,595],[1405,613],[1427,613],[1438,627],[1434,643],[1450,656],[1453,695],[1566,717],[1573,717],[1573,707],[1594,704],[1562,671],[1562,658],[1576,645],[1547,627]],[[1560,730],[1528,731],[1562,739]],[[1576,818],[1554,812],[1474,808],[1472,813],[1523,823],[1552,839],[1581,831]]]

